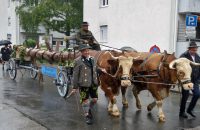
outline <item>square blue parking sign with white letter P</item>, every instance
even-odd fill
[[[187,15],[186,16],[186,26],[196,27],[197,26],[197,15]]]

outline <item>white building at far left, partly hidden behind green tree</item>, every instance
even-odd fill
[[[40,26],[39,31],[36,35],[26,33],[21,27],[19,23],[19,17],[16,15],[15,9],[20,5],[19,0],[0,0],[0,40],[10,40],[13,44],[21,44],[24,40],[28,38],[33,38],[41,41],[41,37],[45,35],[45,28]],[[31,21],[30,21],[31,22]],[[52,40],[50,41],[55,45],[57,41],[61,42],[61,46],[65,46],[63,44],[64,34],[57,32],[50,32],[52,36]]]

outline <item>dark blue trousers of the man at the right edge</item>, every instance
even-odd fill
[[[194,84],[193,86],[193,96],[192,96],[192,100],[188,106],[187,111],[192,111],[194,109],[194,107],[196,106],[196,103],[200,97],[200,91],[199,91],[199,85],[198,84]],[[180,114],[185,112],[185,106],[187,103],[189,97],[189,90],[184,90],[182,88],[182,98],[181,98],[181,104],[180,104]]]

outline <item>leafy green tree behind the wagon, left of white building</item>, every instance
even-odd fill
[[[83,20],[83,0],[23,0],[16,12],[26,32],[35,33],[43,25],[47,32],[69,35]]]

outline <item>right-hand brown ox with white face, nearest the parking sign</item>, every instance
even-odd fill
[[[133,63],[133,94],[136,99],[136,106],[141,109],[140,99],[138,94],[142,90],[148,90],[155,101],[147,106],[147,110],[151,111],[156,105],[158,107],[159,121],[165,121],[165,115],[162,110],[163,99],[169,96],[169,91],[172,84],[178,82],[183,89],[190,90],[193,88],[191,82],[191,64],[200,65],[189,61],[186,58],[179,58],[173,54],[167,54],[165,51],[161,53],[135,53],[132,52],[133,57],[140,57],[142,63]],[[145,76],[146,75],[146,76]],[[149,82],[149,83],[147,83]],[[122,88],[122,96],[125,98],[126,89]]]

